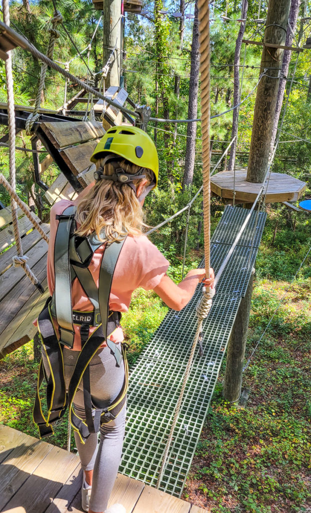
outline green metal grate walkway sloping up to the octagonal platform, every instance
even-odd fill
[[[227,206],[211,242],[211,266],[217,273],[248,210]],[[227,342],[252,268],[265,213],[252,214],[217,285],[208,319],[203,323],[204,354],[195,355],[185,389],[160,489],[180,496],[213,396]],[[201,267],[204,261],[201,262]],[[119,471],[154,485],[174,417],[183,374],[197,326],[195,306],[199,286],[181,311],[170,310],[132,369],[128,420]]]

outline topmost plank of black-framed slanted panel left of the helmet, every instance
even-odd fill
[[[77,143],[85,143],[105,135],[101,123],[95,121],[60,121],[41,123],[40,128],[55,148],[65,148]]]

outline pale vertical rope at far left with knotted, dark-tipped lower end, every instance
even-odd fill
[[[4,23],[10,26],[10,13],[9,13],[9,0],[3,0],[3,19]],[[8,125],[9,125],[9,169],[10,169],[10,182],[12,190],[16,190],[16,170],[15,170],[15,111],[14,111],[14,90],[13,90],[13,73],[12,73],[12,56],[11,51],[8,51],[8,58],[5,61],[6,79],[7,79],[7,96],[8,96]],[[14,267],[21,266],[26,272],[31,282],[40,290],[44,292],[42,285],[38,282],[35,275],[27,265],[28,257],[23,254],[22,241],[18,229],[18,213],[17,204],[11,194],[11,210],[14,239],[16,244],[17,256],[13,257]]]

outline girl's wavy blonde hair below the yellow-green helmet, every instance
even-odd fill
[[[121,158],[119,161],[106,164],[103,158],[98,159],[96,169],[99,167],[103,168],[103,174],[106,175],[113,175],[116,167],[121,167],[129,174],[135,174],[140,169]],[[146,175],[150,184],[151,172],[146,169],[142,174]],[[140,181],[139,178],[131,183],[137,187]],[[111,180],[95,182],[94,187],[79,201],[75,220],[80,224],[76,230],[77,235],[86,236],[95,232],[102,242],[120,241],[128,233],[140,235],[141,227],[144,225],[142,208],[135,191],[127,184]],[[103,228],[105,233],[101,234]]]

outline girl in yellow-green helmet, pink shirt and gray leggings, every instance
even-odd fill
[[[141,233],[142,205],[158,180],[158,156],[149,135],[137,127],[113,127],[98,143],[91,161],[96,164],[95,182],[82,191],[74,202],[61,200],[51,209],[48,252],[48,285],[51,295],[55,288],[54,243],[57,217],[71,205],[76,206],[75,236],[82,240],[96,233],[97,240],[102,242],[94,251],[88,266],[97,287],[101,260],[107,245],[125,239],[113,274],[110,310],[128,311],[131,295],[138,287],[153,289],[170,308],[181,310],[191,300],[199,283],[213,286],[212,269],[209,279],[205,278],[205,269],[193,269],[176,285],[166,274],[169,267],[167,259]],[[72,281],[72,310],[75,320],[79,312],[94,310],[77,279]],[[89,327],[90,334],[94,330],[94,326]],[[63,352],[67,387],[81,350],[81,333],[80,324],[74,322],[73,348],[64,347]],[[118,326],[108,339],[110,347],[113,342],[116,348],[120,348],[123,341],[121,327]],[[96,406],[99,403],[101,408],[112,404],[125,382],[125,366],[116,365],[110,347],[103,340],[89,365],[92,404]],[[80,419],[86,419],[82,381],[74,396],[74,411]],[[107,509],[120,463],[125,419],[124,406],[112,421],[100,426],[99,444],[96,433],[91,433],[83,444],[75,432],[84,470],[82,508],[89,513],[126,511],[121,504],[114,504]]]

